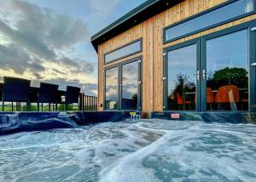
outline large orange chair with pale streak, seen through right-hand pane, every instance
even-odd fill
[[[239,102],[239,89],[235,85],[227,85],[218,88],[215,97],[215,103],[218,103],[218,109],[222,103],[233,103],[235,105]]]

